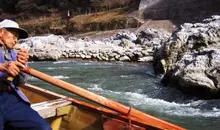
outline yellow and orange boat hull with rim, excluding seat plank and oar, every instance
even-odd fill
[[[138,119],[129,118],[129,115],[124,116],[113,110],[78,101],[30,84],[21,87],[21,90],[32,105],[42,102],[48,104],[59,99],[70,102],[56,108],[54,116],[46,116],[53,130],[157,130],[156,127],[146,125]],[[53,106],[55,105],[52,105],[51,111]],[[50,110],[47,108],[47,111]]]

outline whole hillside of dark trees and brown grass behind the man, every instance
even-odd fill
[[[139,0],[0,1],[0,20],[16,20],[31,34],[69,34],[139,26],[129,14]]]

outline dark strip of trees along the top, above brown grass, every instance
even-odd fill
[[[51,13],[53,9],[91,13],[128,6],[131,1],[140,0],[0,0],[0,10],[3,13]]]

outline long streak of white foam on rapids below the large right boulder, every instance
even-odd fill
[[[100,85],[93,85],[88,90],[96,91],[103,95],[113,96],[125,100],[129,104],[132,104],[138,109],[157,111],[174,116],[185,117],[219,117],[220,109],[213,107],[211,110],[200,109],[199,105],[204,101],[191,101],[190,103],[176,103],[168,102],[163,99],[150,98],[145,94],[135,92],[115,92],[111,90],[105,90]]]

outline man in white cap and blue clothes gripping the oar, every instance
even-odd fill
[[[16,87],[25,83],[26,75],[19,68],[27,64],[29,53],[21,49],[16,54],[13,48],[19,39],[27,37],[27,31],[16,22],[0,22],[0,130],[52,130]]]

